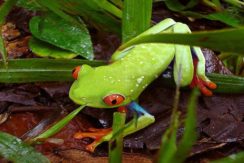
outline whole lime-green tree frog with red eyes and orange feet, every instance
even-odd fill
[[[162,32],[191,33],[191,30],[186,24],[165,19],[137,37]],[[76,67],[73,71],[76,80],[71,86],[69,96],[80,105],[102,109],[128,106],[137,110],[141,113],[137,124],[129,122],[123,131],[124,136],[129,135],[155,121],[135,101],[172,61],[176,83],[198,87],[204,95],[212,95],[210,89],[215,89],[216,85],[205,76],[205,59],[199,47],[146,43],[117,50],[109,65],[95,68],[88,65]],[[95,139],[87,146],[89,151],[94,151],[101,142],[111,139],[113,134],[111,129],[89,131],[74,135],[77,139]]]

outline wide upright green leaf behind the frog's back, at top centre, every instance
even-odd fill
[[[123,42],[148,29],[151,23],[151,15],[152,0],[125,0],[122,19]]]

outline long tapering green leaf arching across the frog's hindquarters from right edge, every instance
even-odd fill
[[[160,33],[143,35],[124,43],[119,49],[141,43],[175,43],[206,47],[217,51],[244,54],[244,27],[215,31],[194,32],[191,34]]]

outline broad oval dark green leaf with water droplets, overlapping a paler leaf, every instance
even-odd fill
[[[42,41],[72,51],[89,60],[94,57],[91,38],[84,24],[81,28],[49,13],[43,17],[33,17],[30,21],[30,31]]]

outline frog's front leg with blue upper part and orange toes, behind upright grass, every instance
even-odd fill
[[[131,110],[136,111],[139,114],[139,118],[136,119],[136,122],[134,120],[131,120],[125,125],[125,128],[123,129],[123,137],[132,134],[134,132],[137,132],[147,127],[148,125],[152,124],[155,121],[154,116],[146,112],[136,102],[131,102],[127,107],[130,108]],[[119,110],[121,111],[121,107]],[[111,128],[108,129],[90,128],[88,129],[88,131],[89,132],[77,132],[74,135],[74,138],[83,139],[88,137],[94,139],[94,141],[91,144],[86,146],[86,150],[90,152],[93,152],[95,148],[102,142],[109,141],[112,138],[112,136],[115,134],[113,133]]]

